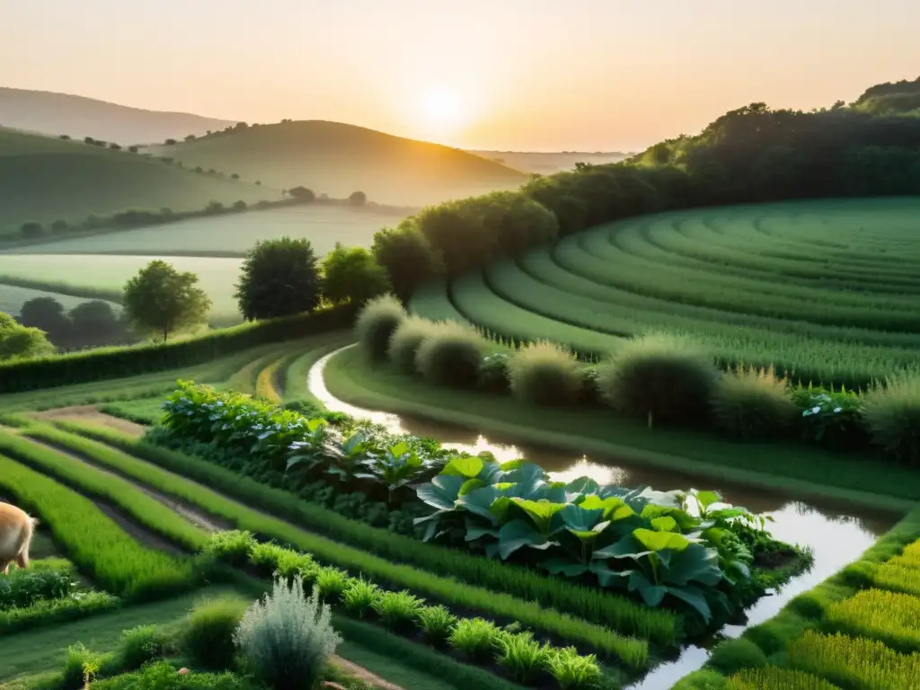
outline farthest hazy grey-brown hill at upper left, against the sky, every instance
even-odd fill
[[[46,134],[91,136],[118,144],[154,144],[222,130],[233,122],[184,112],[142,110],[95,98],[0,87],[0,126]]]

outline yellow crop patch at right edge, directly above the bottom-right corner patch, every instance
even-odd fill
[[[863,590],[831,604],[827,620],[842,632],[879,639],[895,650],[920,650],[920,599],[909,594]]]

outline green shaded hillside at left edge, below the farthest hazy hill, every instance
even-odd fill
[[[199,175],[124,150],[0,128],[0,235],[26,221],[75,224],[90,213],[192,210],[210,201],[279,197],[278,190]]]

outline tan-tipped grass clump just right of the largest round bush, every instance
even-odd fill
[[[788,394],[788,381],[769,369],[746,367],[722,375],[712,395],[712,416],[719,431],[741,441],[765,441],[788,430],[799,408]]]

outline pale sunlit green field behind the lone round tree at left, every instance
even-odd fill
[[[37,279],[48,277],[79,287],[121,291],[125,282],[153,259],[164,259],[177,270],[198,275],[201,289],[213,301],[212,316],[236,316],[234,285],[241,259],[215,257],[117,256],[105,254],[0,255],[0,276]]]

